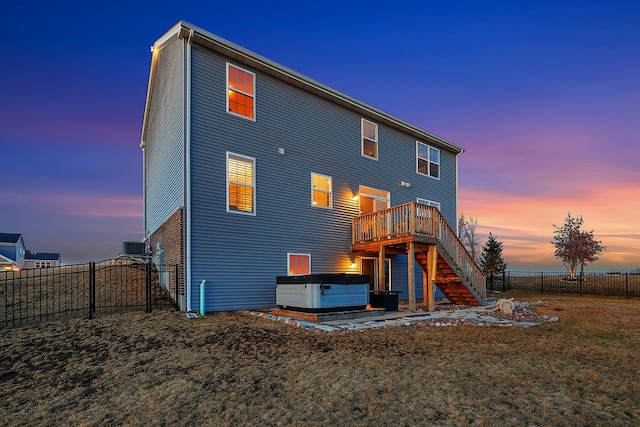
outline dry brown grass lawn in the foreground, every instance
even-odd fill
[[[155,311],[0,330],[1,425],[640,425],[640,301],[533,328],[307,332]]]

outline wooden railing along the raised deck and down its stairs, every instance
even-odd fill
[[[484,274],[438,209],[407,203],[356,217],[351,230],[353,244],[407,236],[432,237],[458,277],[476,293],[481,303],[486,300]]]

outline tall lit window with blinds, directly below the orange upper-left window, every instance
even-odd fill
[[[256,160],[227,152],[227,212],[256,213]]]

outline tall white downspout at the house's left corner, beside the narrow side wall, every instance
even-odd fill
[[[191,41],[193,29],[189,31],[185,55],[184,77],[184,132],[185,132],[185,298],[187,300],[187,312],[191,309]]]

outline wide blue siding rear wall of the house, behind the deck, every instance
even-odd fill
[[[455,224],[454,154],[441,152],[440,180],[419,175],[415,138],[380,125],[379,160],[365,158],[360,115],[260,73],[256,121],[232,116],[225,111],[227,59],[198,46],[192,58],[192,308],[202,280],[207,311],[275,305],[287,252],[310,253],[312,273],[359,272],[349,266],[359,185],[389,191],[392,205],[438,201]],[[255,216],[226,212],[227,151],[256,159]],[[311,206],[311,172],[332,177],[333,209]],[[399,290],[402,282],[406,290],[406,273],[397,274],[406,272],[406,258],[404,264],[392,267]]]

